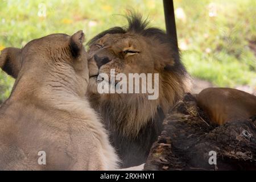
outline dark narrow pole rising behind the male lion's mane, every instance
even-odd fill
[[[176,48],[178,49],[177,44],[177,32],[175,24],[175,15],[174,15],[174,1],[173,0],[163,0],[164,6],[164,18],[166,20],[166,33],[174,39]]]

